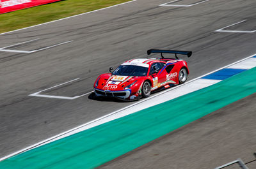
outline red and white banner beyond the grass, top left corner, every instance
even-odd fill
[[[41,4],[53,3],[61,0],[0,0],[0,13],[22,10]]]

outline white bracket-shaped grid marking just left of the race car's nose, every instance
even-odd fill
[[[49,87],[47,89],[44,89],[42,91],[39,91],[39,92],[34,92],[32,94],[29,94],[28,96],[33,96],[33,97],[40,97],[40,98],[54,98],[54,99],[77,99],[77,98],[80,98],[82,96],[86,96],[88,94],[91,94],[91,92],[87,92],[85,94],[82,94],[82,95],[79,95],[79,96],[74,96],[74,97],[68,97],[68,96],[54,96],[54,95],[47,95],[47,94],[40,94],[40,92],[44,92],[44,91],[48,91],[49,89],[53,89],[53,88],[56,88],[56,87],[59,87],[60,85],[65,85],[65,84],[68,84],[70,82],[74,82],[76,80],[79,80],[80,78],[75,78],[73,80],[69,80],[68,82],[64,82],[62,84],[58,84],[58,85],[54,85],[53,87]]]

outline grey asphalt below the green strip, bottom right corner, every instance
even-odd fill
[[[241,158],[256,168],[256,94],[243,98],[172,133],[98,167],[209,169]],[[234,164],[225,169],[239,169]]]

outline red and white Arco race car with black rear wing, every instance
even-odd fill
[[[189,74],[186,61],[177,54],[192,55],[191,51],[150,49],[147,54],[161,54],[161,58],[131,59],[114,71],[100,75],[93,85],[94,95],[134,100],[147,98],[152,91],[186,82]],[[163,54],[175,54],[164,58]]]

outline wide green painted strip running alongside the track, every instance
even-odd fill
[[[256,92],[256,68],[180,98],[68,136],[0,168],[94,168]]]

